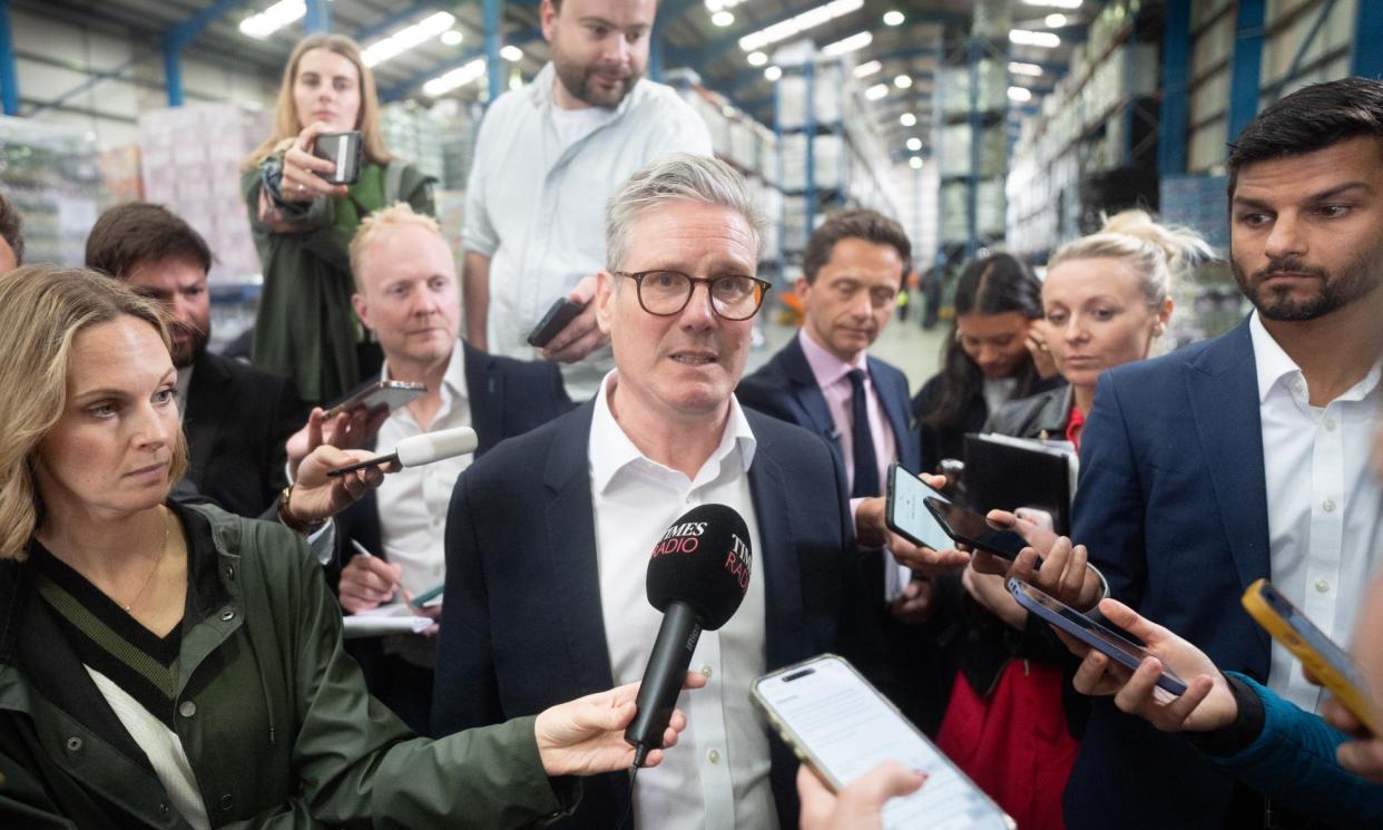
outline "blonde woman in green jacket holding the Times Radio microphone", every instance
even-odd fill
[[[555,776],[629,766],[632,686],[412,737],[365,693],[300,537],[167,499],[176,382],[123,284],[0,277],[0,383],[22,390],[0,397],[0,827],[520,827],[574,805]],[[365,455],[308,455],[285,522],[378,484],[326,484]]]

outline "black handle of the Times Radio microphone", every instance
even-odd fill
[[[692,652],[696,650],[700,638],[701,624],[697,622],[692,606],[685,602],[671,603],[662,614],[662,627],[658,628],[658,639],[653,643],[649,665],[643,670],[643,683],[639,686],[636,700],[638,712],[624,730],[624,740],[638,750],[636,766],[643,765],[643,757],[649,750],[662,748],[662,733],[672,719],[682,681],[687,665],[692,664]]]

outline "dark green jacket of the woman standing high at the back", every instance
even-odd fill
[[[333,401],[362,379],[355,351],[362,329],[350,302],[351,237],[365,214],[391,202],[408,202],[415,212],[434,216],[433,180],[400,160],[364,165],[349,199],[322,196],[310,206],[288,206],[288,214],[304,230],[281,234],[259,220],[263,167],[241,177],[264,274],[254,318],[254,365],[292,378],[304,401]]]

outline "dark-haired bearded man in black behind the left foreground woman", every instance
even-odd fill
[[[206,239],[167,208],[131,202],[95,221],[86,264],[129,282],[169,313],[191,455],[178,492],[191,495],[191,488],[232,513],[263,515],[288,484],[284,444],[307,419],[307,407],[286,378],[207,350]]]

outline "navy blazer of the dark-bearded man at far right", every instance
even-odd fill
[[[1072,538],[1116,599],[1260,682],[1271,645],[1239,605],[1270,575],[1259,380],[1247,321],[1101,375],[1080,445]],[[1221,827],[1232,782],[1181,736],[1097,700],[1070,830]]]

